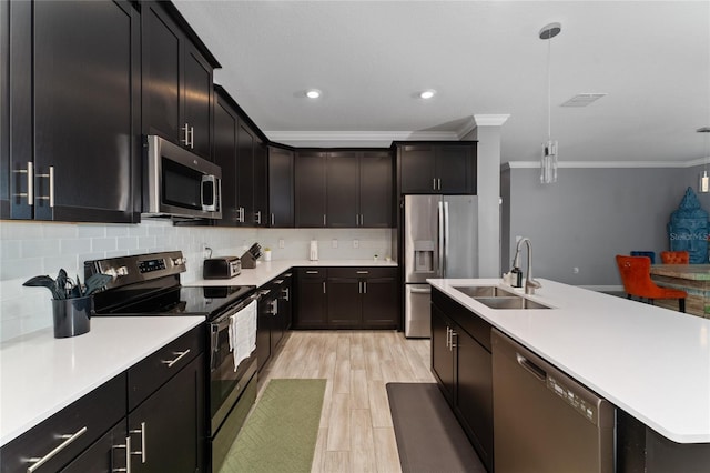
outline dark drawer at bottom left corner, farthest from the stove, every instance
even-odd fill
[[[26,473],[32,465],[27,459],[45,459],[37,473],[62,469],[125,416],[125,383],[119,374],[4,445],[0,470]]]

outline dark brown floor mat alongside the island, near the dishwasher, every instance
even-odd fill
[[[387,383],[404,473],[485,473],[435,383]]]

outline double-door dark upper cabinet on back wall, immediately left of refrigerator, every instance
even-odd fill
[[[393,165],[388,151],[342,151],[327,157],[327,227],[392,227]]]

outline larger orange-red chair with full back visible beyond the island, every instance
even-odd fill
[[[617,254],[617,266],[623,282],[627,299],[647,299],[653,305],[656,299],[678,299],[680,312],[686,312],[688,293],[680,289],[660,288],[651,280],[651,260],[647,256]]]

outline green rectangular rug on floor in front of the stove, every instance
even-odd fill
[[[310,472],[326,380],[271,380],[220,473]]]

